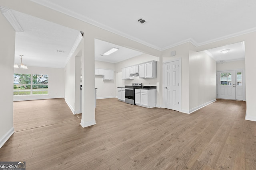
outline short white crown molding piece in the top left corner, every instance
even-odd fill
[[[16,32],[23,32],[23,29],[20,26],[20,23],[18,22],[18,20],[15,18],[14,14],[12,13],[12,10],[1,7],[1,6],[0,6],[0,10],[2,14],[5,16],[5,18],[10,22],[10,24],[12,25],[12,27]]]

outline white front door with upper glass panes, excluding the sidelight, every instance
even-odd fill
[[[217,72],[217,98],[236,100],[236,74],[234,70]]]

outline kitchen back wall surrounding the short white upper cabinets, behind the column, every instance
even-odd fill
[[[95,61],[95,68],[114,70],[114,80],[103,80],[103,76],[95,75],[95,88],[97,88],[97,99],[116,97],[116,72],[115,64]]]

